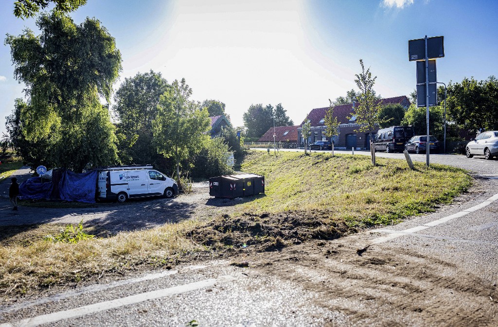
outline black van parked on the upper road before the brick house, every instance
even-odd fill
[[[415,135],[412,126],[382,128],[375,135],[375,151],[403,152],[404,144]]]

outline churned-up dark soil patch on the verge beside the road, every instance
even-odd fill
[[[356,231],[344,222],[330,218],[326,211],[289,211],[279,214],[245,213],[240,217],[223,215],[187,233],[203,245],[246,248],[257,251],[280,249],[305,240],[330,240]]]

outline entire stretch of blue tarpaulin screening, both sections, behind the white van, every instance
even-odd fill
[[[96,170],[88,173],[76,174],[64,169],[61,171],[60,176],[60,181],[56,184],[55,189],[53,182],[41,183],[40,177],[32,177],[27,181],[22,182],[21,185],[19,185],[19,199],[61,199],[65,201],[95,203],[95,191],[97,187]],[[47,179],[45,179],[45,181],[47,181]],[[52,194],[52,191],[55,192],[55,194]]]

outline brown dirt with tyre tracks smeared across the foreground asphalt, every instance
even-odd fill
[[[340,326],[498,326],[496,284],[455,264],[388,244],[359,256],[351,239],[319,243],[255,254],[254,264],[346,314]]]

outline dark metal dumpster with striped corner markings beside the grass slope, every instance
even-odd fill
[[[209,179],[209,195],[234,199],[264,193],[264,176],[256,174],[223,175]]]

